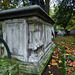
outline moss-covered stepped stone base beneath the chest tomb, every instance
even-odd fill
[[[55,45],[52,43],[38,62],[19,62],[19,75],[41,75],[47,66]]]

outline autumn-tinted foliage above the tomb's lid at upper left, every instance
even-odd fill
[[[28,5],[28,0],[0,0],[0,10],[18,8]]]

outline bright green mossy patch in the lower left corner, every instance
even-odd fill
[[[18,63],[12,59],[0,58],[0,75],[18,75]]]

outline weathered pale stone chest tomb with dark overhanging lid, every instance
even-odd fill
[[[11,56],[20,60],[19,72],[41,75],[54,47],[54,21],[40,6],[33,5],[1,11],[0,22]]]

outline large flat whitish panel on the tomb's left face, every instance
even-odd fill
[[[25,19],[3,22],[3,38],[7,42],[12,57],[27,61],[27,23]]]

